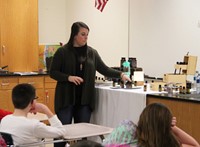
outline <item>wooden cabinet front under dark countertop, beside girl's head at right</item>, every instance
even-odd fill
[[[192,135],[200,142],[200,103],[181,101],[179,99],[166,99],[147,95],[147,105],[151,103],[163,103],[177,119],[177,126]]]

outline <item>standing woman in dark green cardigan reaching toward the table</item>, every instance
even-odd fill
[[[63,124],[90,122],[95,105],[96,71],[107,77],[130,78],[121,71],[109,68],[98,52],[87,45],[89,27],[75,22],[69,41],[54,54],[50,77],[57,81],[55,112]]]

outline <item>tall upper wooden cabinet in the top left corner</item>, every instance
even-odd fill
[[[0,67],[38,70],[38,0],[0,0]]]

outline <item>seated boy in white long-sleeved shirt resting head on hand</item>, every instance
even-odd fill
[[[59,138],[66,131],[50,109],[36,102],[35,88],[30,84],[19,84],[12,90],[14,112],[1,120],[0,131],[12,134],[14,145],[35,143],[42,138]],[[44,113],[47,115],[50,126],[39,120],[27,118],[27,114]]]

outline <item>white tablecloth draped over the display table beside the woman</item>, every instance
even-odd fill
[[[91,123],[116,127],[122,120],[137,123],[146,106],[146,94],[159,93],[140,89],[112,89],[110,86],[96,86],[96,106]]]

